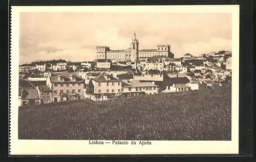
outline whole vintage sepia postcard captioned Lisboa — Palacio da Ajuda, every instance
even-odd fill
[[[239,5],[12,6],[11,155],[238,154]]]

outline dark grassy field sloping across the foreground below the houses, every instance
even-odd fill
[[[22,107],[19,139],[231,140],[231,87]]]

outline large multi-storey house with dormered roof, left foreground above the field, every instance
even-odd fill
[[[84,80],[77,73],[50,73],[46,83],[54,92],[54,102],[83,99]]]

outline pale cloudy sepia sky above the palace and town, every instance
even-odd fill
[[[20,13],[19,64],[39,60],[92,61],[97,45],[139,49],[169,44],[175,58],[231,51],[229,13]]]

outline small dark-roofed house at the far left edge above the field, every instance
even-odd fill
[[[22,106],[41,104],[41,100],[36,89],[23,89],[21,94]]]

